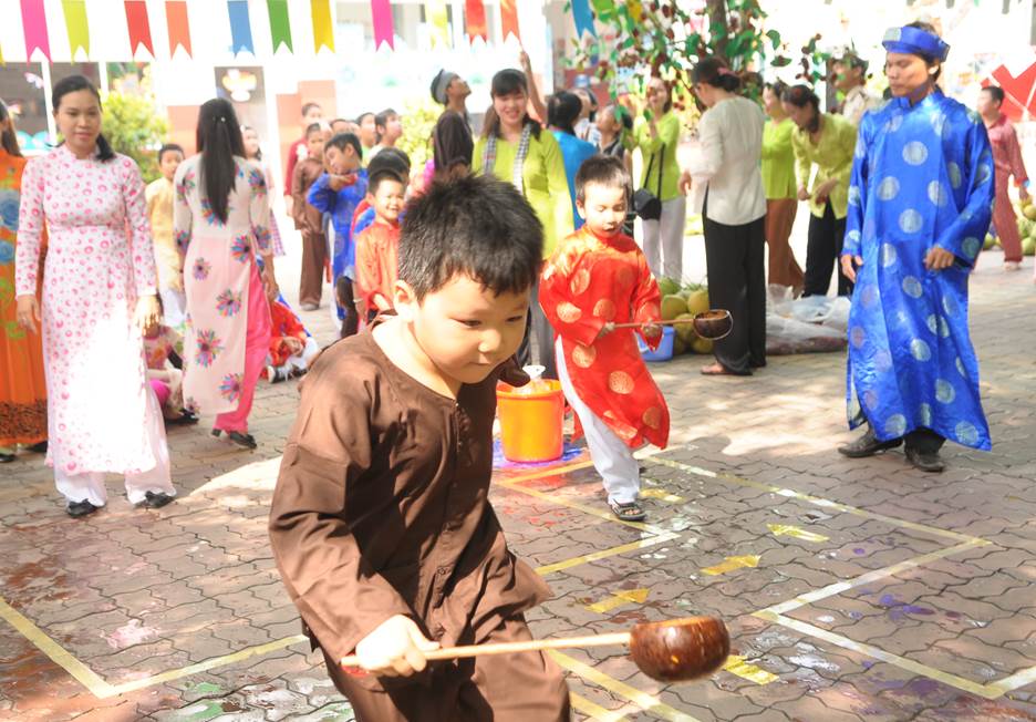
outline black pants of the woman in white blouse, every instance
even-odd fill
[[[705,212],[708,207],[706,203]],[[763,218],[740,226],[716,223],[705,215],[705,265],[708,303],[727,309],[734,329],[716,341],[713,352],[732,373],[766,365],[766,268]]]

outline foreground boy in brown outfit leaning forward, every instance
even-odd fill
[[[495,386],[521,342],[542,243],[510,184],[434,185],[407,208],[397,317],[332,345],[302,384],[270,539],[360,722],[570,716],[540,652],[424,657],[528,640],[522,612],[549,595],[488,502]],[[351,653],[362,670],[341,668]]]

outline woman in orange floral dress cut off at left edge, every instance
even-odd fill
[[[38,333],[18,328],[14,245],[22,157],[14,118],[0,101],[0,464],[14,461],[17,444],[46,447],[46,382]],[[35,292],[39,299],[39,290]]]

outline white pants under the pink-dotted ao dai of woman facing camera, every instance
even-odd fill
[[[147,389],[147,439],[152,453],[158,462],[154,468],[146,472],[126,474],[126,497],[131,504],[139,504],[147,492],[176,496],[169,468],[169,447],[166,445],[165,424],[162,421],[162,410],[155,392]],[[103,472],[86,472],[84,474],[66,474],[54,468],[54,482],[58,491],[70,502],[87,501],[94,506],[104,506],[107,502],[107,488],[104,485]]]

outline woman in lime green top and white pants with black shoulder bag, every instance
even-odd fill
[[[662,217],[644,220],[644,256],[655,278],[683,278],[683,235],[687,199],[680,193],[680,118],[673,113],[669,85],[660,78],[648,83],[648,110],[634,130],[643,156],[641,187],[662,202]],[[661,174],[661,180],[660,180]]]

